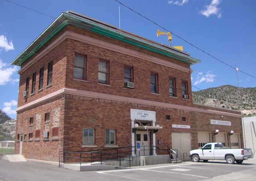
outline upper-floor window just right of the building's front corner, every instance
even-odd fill
[[[85,68],[86,68],[85,57],[81,55],[75,55],[74,78],[85,80],[85,70],[86,70]]]

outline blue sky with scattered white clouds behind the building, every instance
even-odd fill
[[[120,0],[168,30],[242,71],[256,76],[255,0]],[[13,0],[18,4],[57,17],[62,11],[76,12],[118,26],[118,4],[114,0]],[[121,29],[167,44],[156,37],[156,25],[120,6]],[[53,21],[52,18],[0,0],[0,109],[12,118],[18,100],[17,71],[9,65]],[[160,29],[160,28],[159,28]],[[160,29],[161,31],[164,31]],[[172,45],[202,60],[193,69],[237,84],[236,71],[214,60],[173,35]],[[256,87],[256,79],[239,73],[242,87]],[[200,89],[226,85],[218,79],[192,73],[192,85]],[[197,89],[193,88],[194,91]]]

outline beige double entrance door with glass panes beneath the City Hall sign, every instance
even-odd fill
[[[140,156],[147,156],[150,153],[150,140],[146,131],[136,131],[136,145],[140,143]],[[138,155],[138,151],[136,151]]]

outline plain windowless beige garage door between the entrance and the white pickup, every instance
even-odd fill
[[[172,133],[172,149],[180,150],[184,153],[187,153],[187,157],[184,157],[184,159],[185,160],[190,159],[189,158],[189,151],[191,151],[190,133]]]

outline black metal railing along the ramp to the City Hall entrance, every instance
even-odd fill
[[[164,147],[164,148],[160,148]],[[130,147],[118,147],[118,148],[109,148],[102,150],[92,150],[92,151],[60,151],[59,152],[59,167],[61,163],[67,162],[78,162],[80,165],[84,163],[85,159],[88,163],[94,161],[100,161],[102,165],[102,161],[105,160],[115,160],[119,161],[119,166],[121,166],[122,161],[129,161],[129,166],[131,166],[131,161],[134,160],[134,157],[131,155],[136,155],[137,153],[140,156],[140,153],[148,153],[148,155],[152,155],[152,151],[164,151],[170,155],[170,148],[168,146],[140,146],[140,152],[138,153],[138,149],[136,146]],[[78,161],[79,160],[79,161]]]

